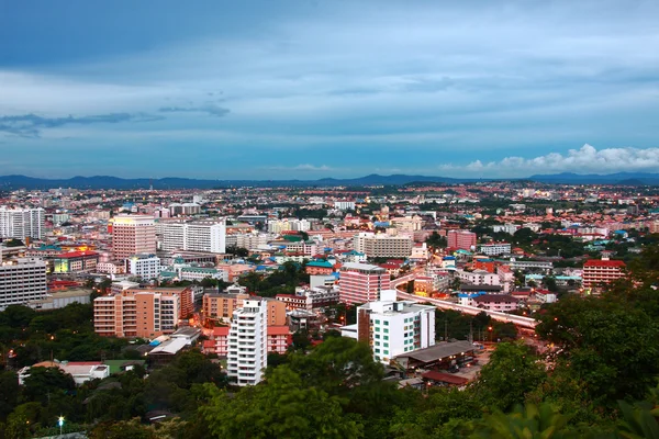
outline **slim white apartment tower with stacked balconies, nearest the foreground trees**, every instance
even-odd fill
[[[268,365],[267,301],[243,301],[228,331],[227,375],[237,385],[256,385]]]

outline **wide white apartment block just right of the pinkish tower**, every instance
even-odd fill
[[[226,224],[219,223],[165,223],[161,230],[161,249],[165,251],[226,251]]]

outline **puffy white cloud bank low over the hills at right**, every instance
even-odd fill
[[[604,148],[583,145],[567,154],[550,153],[534,158],[505,157],[498,161],[471,161],[465,166],[440,165],[450,175],[469,172],[483,177],[528,177],[535,173],[574,172],[656,172],[659,169],[659,148]]]

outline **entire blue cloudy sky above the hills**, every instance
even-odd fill
[[[0,175],[659,172],[659,2],[0,0]]]

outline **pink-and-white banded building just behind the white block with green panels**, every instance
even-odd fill
[[[338,297],[348,305],[377,301],[391,285],[387,270],[368,263],[344,263],[339,279]]]

